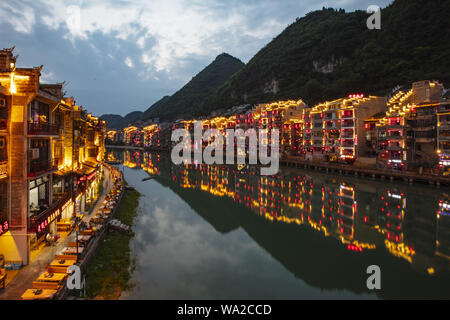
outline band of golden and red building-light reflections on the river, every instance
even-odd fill
[[[148,165],[148,170],[155,170],[152,168],[160,163],[159,158],[152,155],[147,159],[152,159],[149,162],[153,163]],[[159,172],[164,177],[164,171]],[[407,196],[396,190],[386,191],[384,187],[378,190],[371,186],[356,188],[325,176],[312,178],[290,173],[260,176],[256,167],[251,166],[237,170],[233,166],[171,165],[168,172],[166,179],[182,188],[229,198],[270,222],[308,226],[326,237],[337,239],[355,254],[385,247],[390,254],[417,267],[424,256],[440,255],[443,257],[440,261],[444,264],[447,261],[447,240],[450,238],[447,237],[447,220],[442,217],[447,207],[441,206],[441,217],[436,226],[438,241],[432,246],[429,240],[434,239],[436,229],[430,229],[426,235],[423,231],[435,221],[429,219],[431,216],[425,209],[416,208],[421,205],[420,201],[416,205],[410,204],[415,207],[415,214],[408,219]],[[364,197],[373,198],[370,207]],[[359,208],[360,201],[365,205]],[[424,212],[423,216],[421,212]],[[426,226],[422,225],[424,220]],[[413,238],[411,234],[414,234]],[[431,266],[436,267],[434,263]],[[431,268],[428,264],[427,267]],[[433,270],[439,270],[436,268]]]

